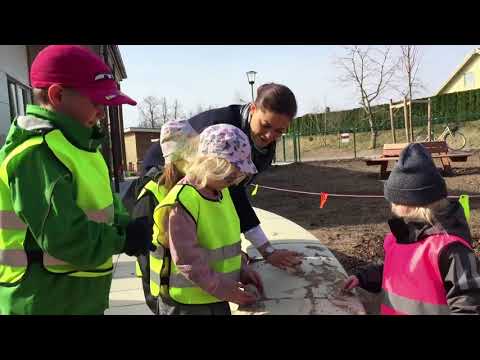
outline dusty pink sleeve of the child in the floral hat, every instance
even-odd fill
[[[205,250],[198,244],[195,221],[180,205],[170,211],[168,234],[172,259],[180,273],[204,291],[224,300],[235,282],[210,268]]]

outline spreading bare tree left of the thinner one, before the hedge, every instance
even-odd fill
[[[374,104],[390,86],[397,64],[392,61],[390,47],[383,48],[345,46],[344,56],[336,59],[342,70],[339,80],[345,85],[355,86],[359,97],[359,104],[365,110],[370,125],[370,148],[374,149],[377,143],[375,130]]]

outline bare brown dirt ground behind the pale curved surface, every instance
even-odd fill
[[[393,164],[389,165],[389,170]],[[440,163],[437,164],[440,168]],[[480,195],[480,156],[475,153],[465,163],[453,163],[454,175],[445,177],[449,195]],[[366,166],[361,159],[311,161],[273,166],[259,175],[260,185],[285,189],[341,194],[383,194],[379,167]],[[383,237],[390,209],[383,198],[357,199],[330,197],[323,209],[318,196],[258,190],[252,203],[290,219],[328,246],[350,274],[383,258]],[[470,199],[471,232],[479,254],[480,199]],[[367,312],[378,311],[378,296],[360,291]]]

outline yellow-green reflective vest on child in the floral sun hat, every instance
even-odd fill
[[[150,254],[151,293],[164,297],[168,291],[171,299],[182,304],[223,301],[185,278],[173,261],[165,264],[168,267],[155,261],[164,257],[162,252],[168,248],[167,234],[163,230],[164,217],[168,214],[168,208],[177,203],[180,203],[195,221],[199,245],[206,251],[211,268],[234,281],[240,280],[240,221],[228,189],[222,191],[220,200],[209,200],[191,185],[175,185],[155,208],[153,215],[158,231],[153,239],[157,250]],[[168,285],[165,285],[166,277]]]

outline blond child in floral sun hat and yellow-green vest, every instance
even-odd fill
[[[154,244],[172,261],[167,272],[165,266],[151,268],[157,271],[151,284],[169,305],[167,313],[229,315],[228,302],[256,301],[247,285],[263,293],[260,277],[241,255],[240,222],[228,191],[256,172],[249,140],[240,129],[218,124],[200,134],[185,177],[154,212],[161,228]]]

